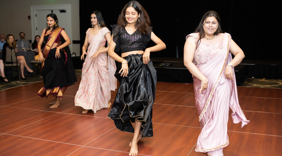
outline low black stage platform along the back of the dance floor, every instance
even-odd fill
[[[184,66],[183,58],[150,57],[157,70],[157,80],[161,82],[193,83],[192,74]],[[84,60],[80,56],[72,57],[74,67],[82,69]],[[117,63],[117,62],[116,62]],[[170,63],[172,66],[161,66]],[[282,61],[243,60],[234,67],[236,82],[240,86],[245,78],[282,78]]]

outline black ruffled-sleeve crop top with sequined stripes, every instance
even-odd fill
[[[113,34],[112,40],[116,43],[116,52],[145,51],[148,42],[151,40],[151,28],[146,34],[142,34],[136,30],[130,35],[125,28],[122,29],[118,25],[111,25],[111,27]]]

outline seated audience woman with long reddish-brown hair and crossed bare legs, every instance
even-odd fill
[[[15,48],[15,51],[18,52],[17,48],[16,48],[16,41],[15,41],[15,37],[11,34],[8,34],[6,37],[6,43],[3,45],[3,62],[6,62],[6,47],[7,46],[12,46]],[[26,61],[24,59],[24,56],[17,56],[18,59],[18,63],[20,64],[21,67],[21,76],[23,80],[26,80],[26,78],[24,77],[24,67],[27,69],[26,71],[29,73],[33,73],[33,70],[31,70],[29,68],[29,66],[26,64]]]

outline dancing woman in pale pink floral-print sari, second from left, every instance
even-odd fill
[[[93,11],[90,20],[92,28],[86,31],[82,47],[81,60],[84,55],[86,58],[75,97],[75,105],[84,108],[82,113],[87,113],[88,110],[96,113],[102,108],[109,108],[111,90],[117,88],[117,79],[114,77],[116,64],[111,57],[107,57],[108,47],[105,47],[106,40],[108,43],[111,41],[111,32],[99,11]]]

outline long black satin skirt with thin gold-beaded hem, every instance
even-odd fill
[[[118,73],[121,69],[119,63],[115,73],[119,88],[108,117],[114,120],[119,130],[129,133],[134,133],[130,120],[135,122],[137,118],[142,122],[142,138],[153,137],[152,107],[156,95],[156,70],[152,61],[148,65],[143,63],[143,54],[131,54],[124,59],[128,62],[128,75],[122,77]]]

